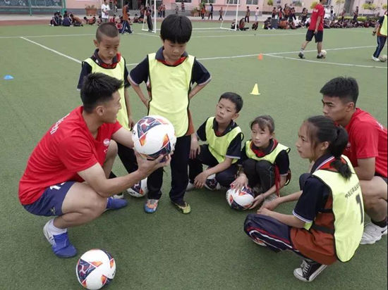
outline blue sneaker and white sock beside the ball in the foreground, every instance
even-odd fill
[[[67,232],[63,234],[51,234],[49,232],[49,222],[43,227],[43,234],[51,244],[52,251],[59,258],[71,258],[77,255],[77,250],[70,243]]]

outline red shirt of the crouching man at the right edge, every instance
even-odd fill
[[[356,167],[357,159],[375,157],[375,172],[387,177],[387,128],[370,113],[356,108],[345,129],[349,140],[344,155],[348,156],[351,164]]]

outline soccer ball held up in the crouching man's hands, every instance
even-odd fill
[[[174,126],[159,115],[141,118],[133,126],[133,145],[135,151],[149,160],[174,151],[176,136]]]

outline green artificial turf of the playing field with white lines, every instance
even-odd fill
[[[194,27],[216,27],[194,23]],[[121,39],[121,53],[128,64],[138,63],[161,45],[154,34],[135,33]],[[319,90],[339,75],[356,77],[360,85],[358,106],[387,125],[387,64],[370,60],[375,47],[372,30],[325,30],[326,60],[320,63],[272,58],[264,54],[245,58],[203,60],[212,82],[190,104],[198,127],[222,92],[237,92],[244,106],[237,122],[249,138],[249,122],[269,114],[276,123],[276,136],[291,147],[293,179],[282,194],[298,190],[298,176],[307,170],[307,160],[298,157],[294,143],[299,125],[310,115],[321,113]],[[105,248],[116,258],[117,274],[109,289],[387,289],[387,237],[372,246],[360,246],[348,263],[335,263],[313,284],[293,277],[300,258],[292,253],[274,254],[255,245],[243,233],[248,212],[228,208],[224,192],[190,191],[193,208],[182,215],[168,198],[169,169],[157,213],[143,212],[144,199],[129,199],[129,206],[108,212],[88,225],[69,230],[79,255],[59,259],[51,253],[42,227],[46,217],[30,215],[18,203],[18,180],[32,149],[50,125],[80,104],[75,90],[80,64],[13,36],[86,34],[83,36],[28,37],[80,61],[91,55],[95,27],[47,27],[43,25],[0,27],[0,158],[1,228],[0,289],[80,289],[75,263],[90,248]],[[143,33],[143,32],[142,32]],[[195,30],[188,52],[198,58],[241,56],[298,51],[305,30],[227,32]],[[308,49],[315,49],[311,43]],[[387,53],[387,49],[384,49]],[[280,56],[297,58],[297,53]],[[317,61],[315,52],[306,53]],[[375,65],[384,68],[329,65],[322,63]],[[128,69],[133,65],[128,65]],[[13,75],[14,80],[2,80]],[[260,96],[250,95],[257,83]],[[142,103],[131,90],[135,119],[145,115]],[[115,172],[124,174],[116,163]],[[291,213],[293,204],[279,207]],[[250,211],[253,213],[253,211]]]

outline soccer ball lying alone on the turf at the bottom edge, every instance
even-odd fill
[[[80,257],[75,273],[78,282],[86,289],[101,289],[116,275],[116,262],[107,251],[94,248]]]

